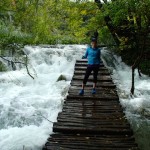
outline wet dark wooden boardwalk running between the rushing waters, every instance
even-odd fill
[[[116,87],[103,64],[97,93],[91,94],[91,75],[84,96],[78,95],[86,66],[85,60],[76,62],[68,96],[43,150],[137,150]]]

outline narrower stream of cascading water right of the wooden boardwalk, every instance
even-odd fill
[[[107,49],[102,51],[103,61],[112,72],[117,85],[118,95],[126,116],[134,130],[136,141],[141,150],[150,150],[150,77],[139,77],[135,71],[135,94],[130,95],[131,67],[125,65],[121,58]]]

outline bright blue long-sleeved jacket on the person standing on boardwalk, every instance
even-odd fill
[[[101,51],[99,48],[88,47],[83,58],[88,58],[89,65],[100,64]]]

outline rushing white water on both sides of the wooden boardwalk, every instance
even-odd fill
[[[86,45],[56,47],[26,46],[29,71],[25,68],[0,74],[0,150],[41,150],[52,123],[67,94],[76,59]],[[125,108],[142,150],[150,149],[150,78],[135,74],[135,95],[130,96],[131,68],[120,57],[102,51],[103,61],[112,72],[120,102]],[[67,81],[59,81],[60,75]],[[48,120],[47,120],[48,119]]]

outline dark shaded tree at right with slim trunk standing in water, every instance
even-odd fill
[[[132,65],[132,88],[134,93],[134,69],[142,63],[146,39],[150,38],[149,0],[95,0],[104,14],[106,25],[118,46],[123,60]],[[143,38],[144,35],[144,38]],[[140,75],[140,74],[139,74]]]

